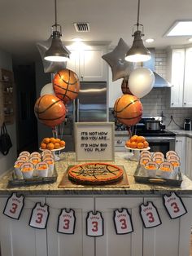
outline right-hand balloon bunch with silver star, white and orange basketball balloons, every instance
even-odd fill
[[[129,46],[122,38],[116,48],[103,55],[103,60],[111,67],[112,81],[124,78],[121,83],[123,95],[116,99],[114,114],[120,123],[133,126],[142,118],[140,98],[147,95],[154,86],[155,76],[149,68],[135,68],[133,63],[124,60]]]

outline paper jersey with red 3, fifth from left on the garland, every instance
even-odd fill
[[[122,208],[122,210],[114,210],[113,219],[116,228],[116,234],[123,235],[133,232],[132,219],[127,209]]]

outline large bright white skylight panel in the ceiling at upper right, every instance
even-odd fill
[[[167,37],[175,36],[192,36],[192,20],[177,20],[172,25],[168,32],[165,33]]]

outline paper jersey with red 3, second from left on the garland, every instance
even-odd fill
[[[32,210],[29,226],[44,229],[49,218],[49,206],[37,203]]]

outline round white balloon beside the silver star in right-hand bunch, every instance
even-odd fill
[[[149,68],[136,68],[129,75],[129,90],[137,98],[147,95],[155,83],[154,73]]]

